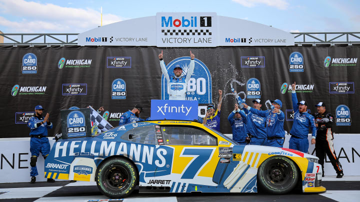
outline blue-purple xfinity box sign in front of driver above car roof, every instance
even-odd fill
[[[197,120],[197,101],[151,100],[151,120]]]

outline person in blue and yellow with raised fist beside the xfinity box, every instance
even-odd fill
[[[222,90],[218,90],[218,94],[219,94],[219,100],[216,111],[213,105],[208,105],[205,118],[203,118],[202,120],[202,124],[209,128],[220,131],[220,110],[221,110],[221,102],[222,102]]]

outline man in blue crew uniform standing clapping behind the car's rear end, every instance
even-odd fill
[[[27,122],[27,126],[30,128],[30,167],[31,167],[31,181],[30,183],[36,182],[38,175],[36,168],[36,161],[39,153],[46,159],[50,153],[50,143],[47,139],[47,129],[52,128],[52,123],[48,120],[49,113],[46,113],[45,118],[42,117],[43,108],[41,105],[35,107],[35,116],[31,117]],[[47,179],[48,183],[55,182],[53,179]]]

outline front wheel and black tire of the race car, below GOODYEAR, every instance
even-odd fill
[[[296,165],[283,156],[273,156],[266,159],[257,171],[257,181],[260,191],[270,194],[286,194],[297,183],[298,171]]]

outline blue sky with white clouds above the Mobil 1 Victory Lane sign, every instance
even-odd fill
[[[359,0],[0,0],[4,33],[81,33],[156,12],[216,12],[288,32],[359,32]]]

